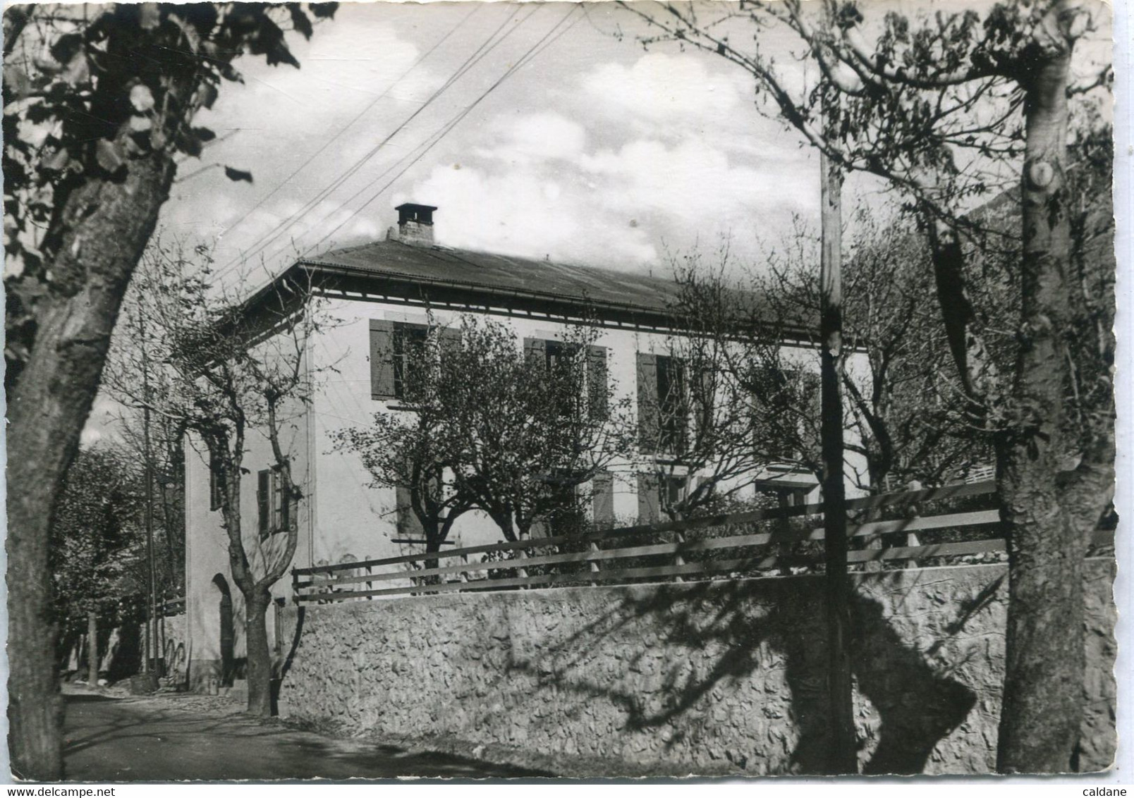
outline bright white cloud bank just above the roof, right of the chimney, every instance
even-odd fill
[[[730,235],[754,255],[758,235],[818,202],[818,179],[801,180],[798,162],[742,162],[696,137],[591,150],[581,125],[552,112],[485,129],[464,163],[435,167],[391,202],[438,205],[443,244],[642,270],[658,265],[662,243],[711,247]]]

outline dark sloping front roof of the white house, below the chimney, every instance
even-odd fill
[[[669,309],[678,296],[674,281],[662,278],[397,240],[335,249],[301,263],[398,282],[488,289],[653,313]]]

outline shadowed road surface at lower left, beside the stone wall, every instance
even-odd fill
[[[195,696],[67,696],[71,781],[485,779],[545,776],[452,754],[340,740],[264,724]]]

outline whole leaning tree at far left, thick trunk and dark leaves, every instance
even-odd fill
[[[310,6],[315,18],[335,3]],[[298,3],[11,5],[3,12],[8,656],[12,771],[59,779],[48,530],[126,286],[193,126],[244,52],[298,66]],[[226,168],[234,179],[248,172]]]

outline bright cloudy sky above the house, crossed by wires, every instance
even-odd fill
[[[643,48],[649,33],[611,2],[345,2],[310,41],[289,34],[299,69],[237,60],[244,82],[198,113],[218,138],[179,164],[159,234],[214,247],[245,290],[383,238],[404,202],[438,206],[452,247],[665,274],[727,239],[760,271],[794,215],[818,224],[818,155],[761,114],[747,73]],[[797,46],[759,44],[782,62]],[[792,79],[813,80],[799,63]],[[852,177],[844,206],[883,200]],[[115,409],[96,402],[86,443]]]

